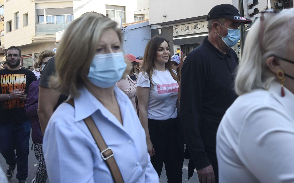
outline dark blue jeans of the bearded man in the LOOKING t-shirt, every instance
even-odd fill
[[[30,133],[31,121],[0,125],[0,152],[7,165],[17,165],[16,178],[19,180],[28,177]]]

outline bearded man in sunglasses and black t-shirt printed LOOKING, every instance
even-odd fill
[[[26,183],[31,122],[23,108],[29,85],[36,77],[30,70],[20,67],[22,56],[18,47],[9,47],[5,54],[9,67],[0,70],[0,151],[9,165],[8,180],[13,177],[17,165],[16,178]]]

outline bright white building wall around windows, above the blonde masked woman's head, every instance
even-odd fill
[[[134,22],[136,14],[144,14],[145,19],[149,18],[148,0],[79,0],[74,1],[74,19],[80,17],[83,13],[95,11],[105,15],[106,5],[125,6],[126,23]],[[146,10],[142,10],[146,9]],[[138,11],[142,10],[142,11]]]

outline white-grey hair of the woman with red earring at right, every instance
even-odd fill
[[[265,13],[264,32],[260,50],[260,19],[251,27],[244,47],[244,56],[238,68],[235,80],[235,91],[238,95],[251,92],[253,89],[264,89],[275,80],[276,76],[266,65],[271,55],[283,57],[287,54],[288,44],[294,40],[294,9]]]

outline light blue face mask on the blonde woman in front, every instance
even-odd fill
[[[88,78],[97,87],[110,88],[121,79],[126,67],[123,52],[95,55]]]

